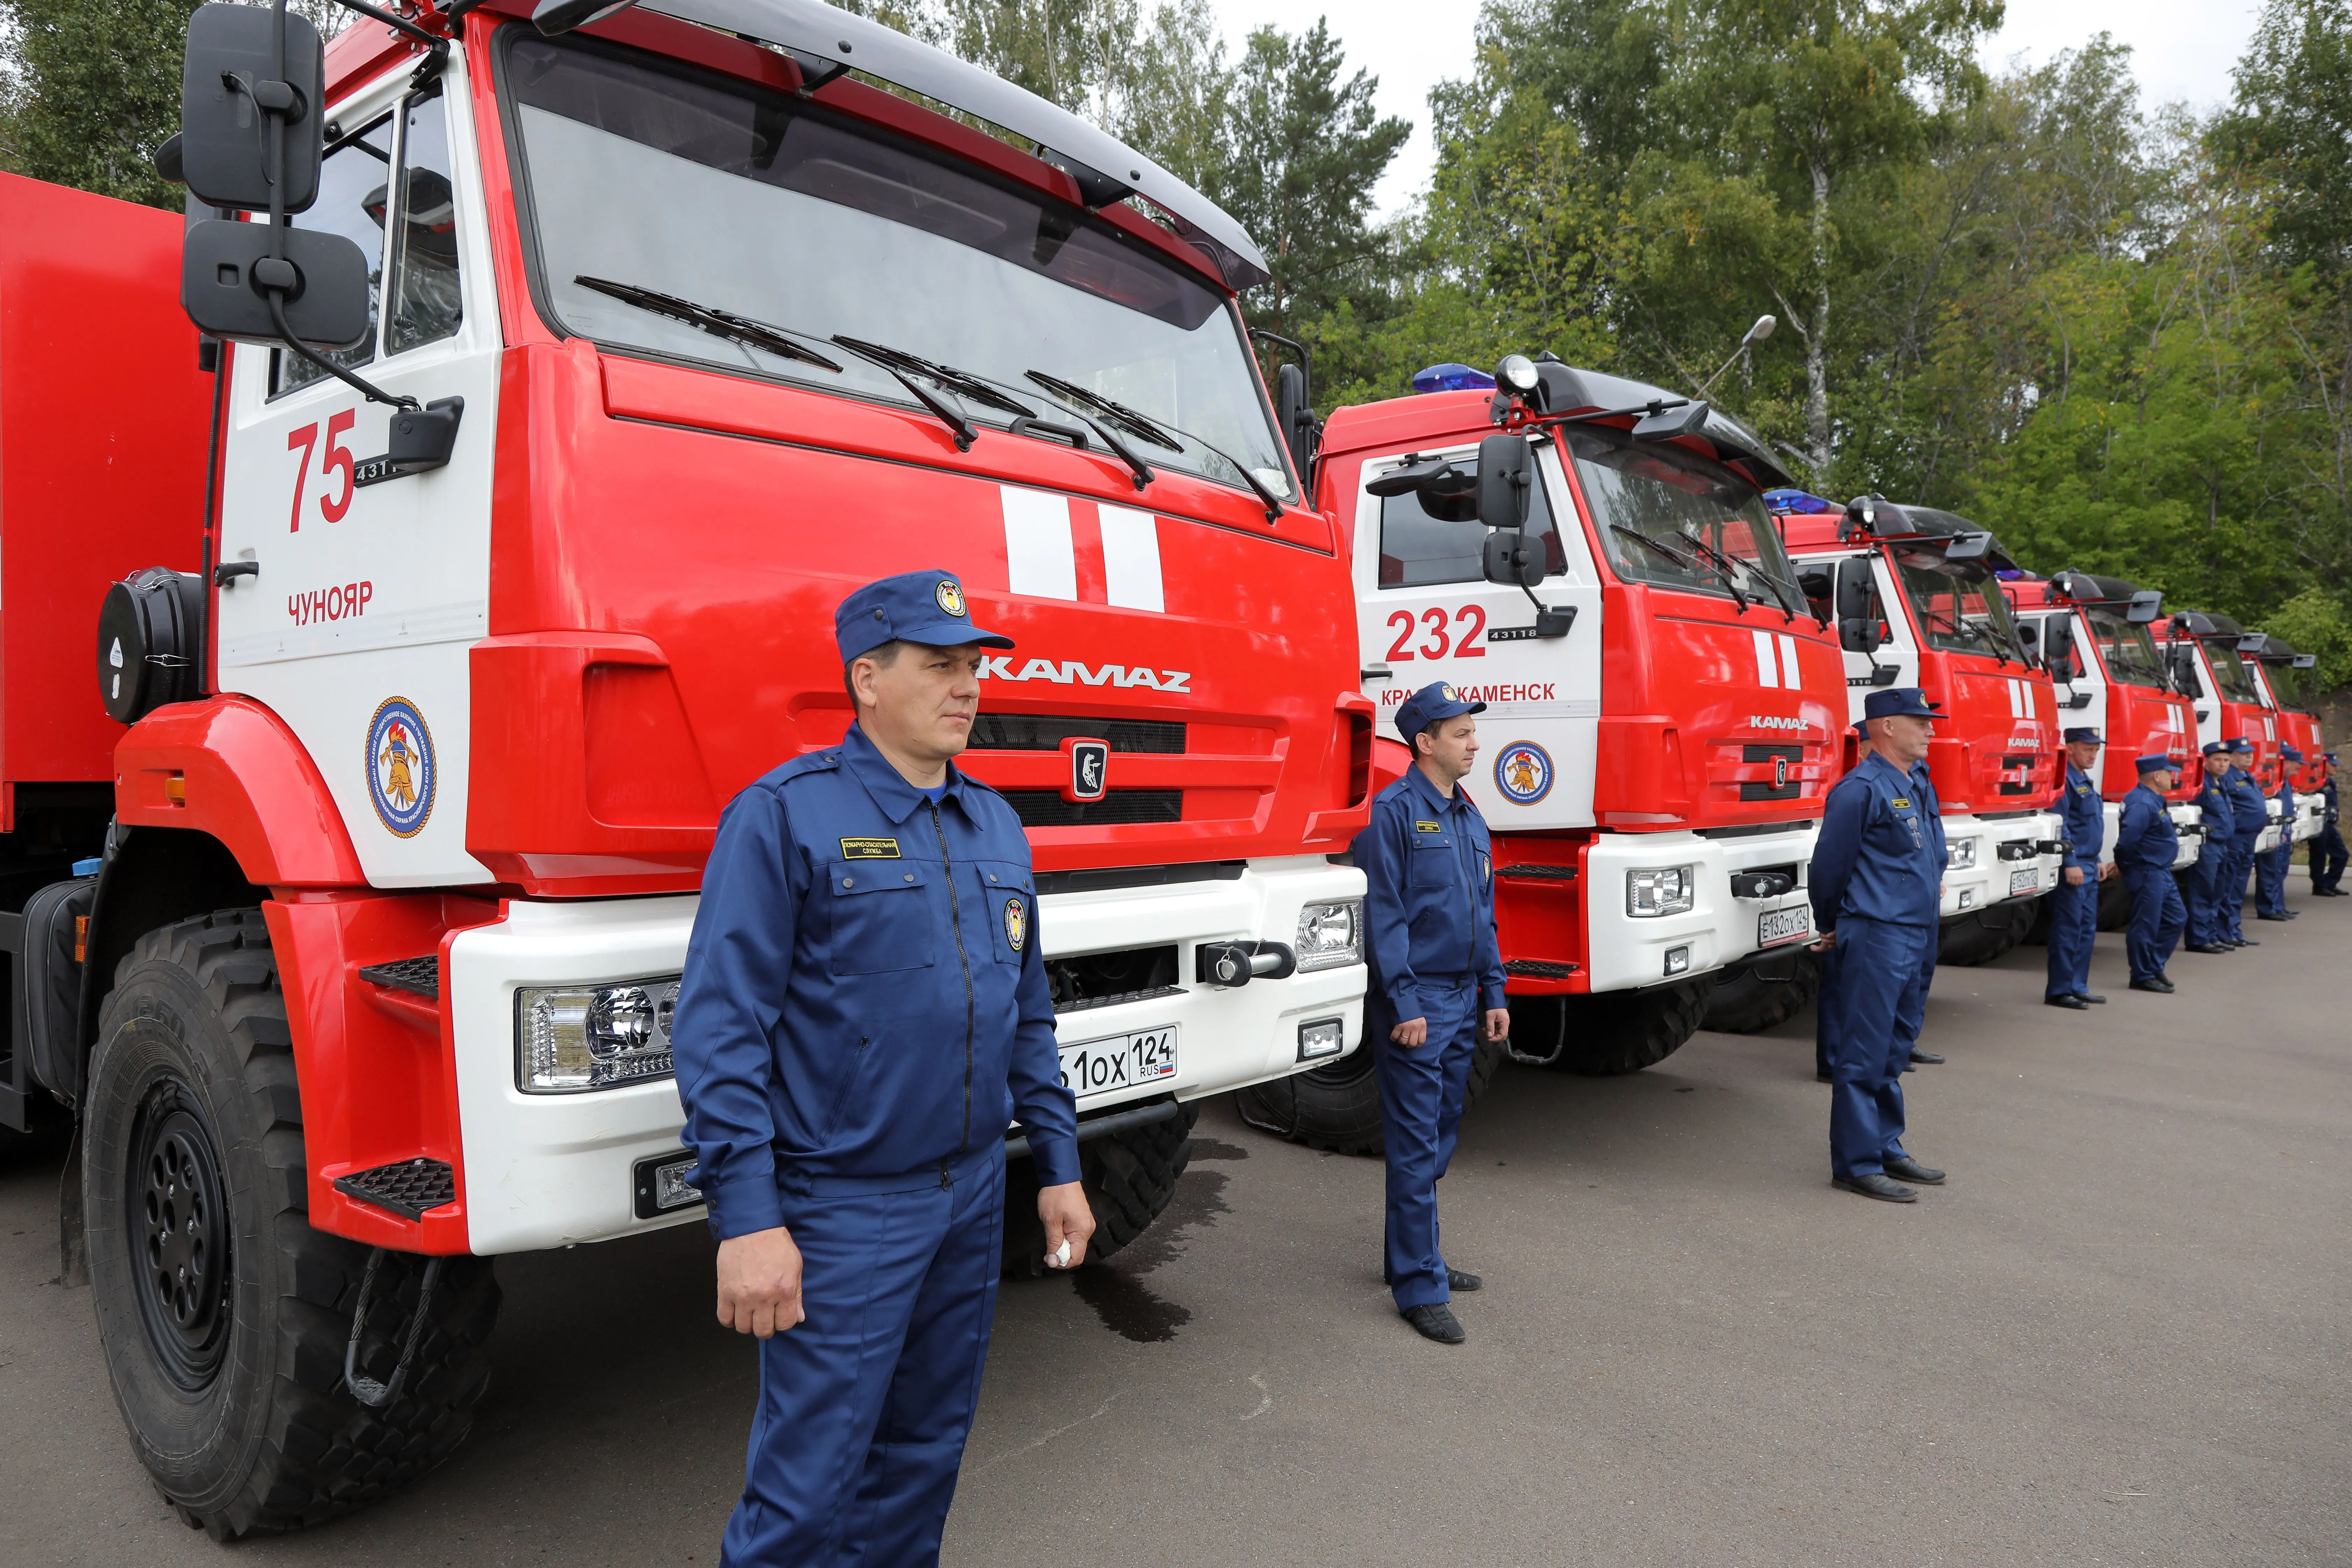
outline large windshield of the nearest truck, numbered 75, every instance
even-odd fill
[[[1148,463],[1237,487],[1247,465],[1294,496],[1232,303],[1110,223],[793,94],[590,40],[513,28],[506,94],[560,329],[922,407],[887,355],[840,348],[856,339],[953,367],[915,376],[974,423],[1082,414]]]

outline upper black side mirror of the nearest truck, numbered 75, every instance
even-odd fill
[[[327,49],[303,16],[256,5],[200,5],[188,16],[179,78],[179,169],[209,207],[308,212],[318,200],[325,132]],[[270,120],[285,122],[270,136]],[[273,143],[278,143],[273,148]],[[278,167],[278,160],[285,167]]]

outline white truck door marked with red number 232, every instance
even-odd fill
[[[1432,517],[1418,496],[1374,496],[1362,484],[1406,454],[1371,458],[1357,489],[1355,592],[1364,693],[1395,736],[1397,705],[1430,682],[1486,703],[1479,766],[1465,780],[1496,832],[1592,825],[1592,769],[1602,712],[1602,592],[1573,527],[1559,454],[1536,451],[1526,531],[1543,538],[1548,576],[1536,597],[1573,609],[1566,637],[1536,637],[1536,607],[1484,578],[1486,529],[1475,517]],[[1439,456],[1421,451],[1418,456]],[[1477,447],[1442,449],[1465,470]],[[1566,527],[1555,520],[1566,517]]]

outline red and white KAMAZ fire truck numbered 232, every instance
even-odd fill
[[[1682,1046],[1715,978],[1811,936],[1804,867],[1844,726],[1743,425],[1510,355],[1331,414],[1317,496],[1350,541],[1364,691],[1486,703],[1510,1053],[1585,1074]],[[1451,386],[1446,386],[1451,383]],[[1409,764],[1383,717],[1381,780]],[[1244,1095],[1261,1126],[1378,1147],[1369,1053]]]

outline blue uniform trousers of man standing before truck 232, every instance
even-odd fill
[[[1454,1161],[1463,1124],[1470,1058],[1477,1056],[1477,983],[1421,980],[1430,1039],[1404,1048],[1388,1039],[1397,1025],[1388,999],[1374,990],[1367,1006],[1374,1070],[1381,1077],[1381,1150],[1388,1159],[1388,1234],[1381,1276],[1397,1309],[1451,1300],[1446,1260],[1437,1251],[1437,1178]]]

